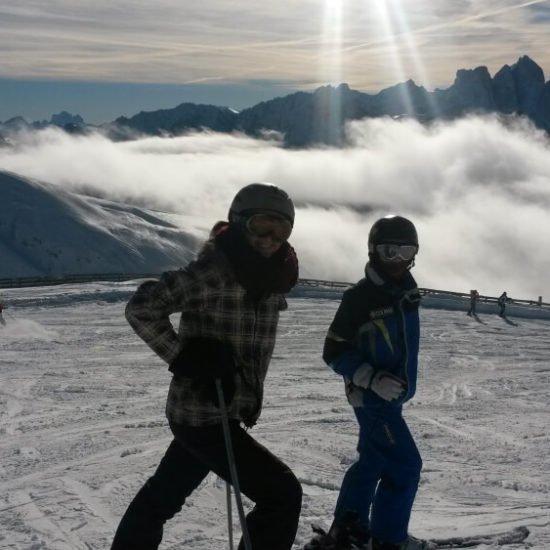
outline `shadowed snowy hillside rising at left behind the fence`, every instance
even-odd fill
[[[0,171],[0,278],[157,273],[197,242],[168,215]]]

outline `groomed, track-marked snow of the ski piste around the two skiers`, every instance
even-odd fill
[[[49,300],[44,289],[3,292],[16,306],[0,330],[0,549],[108,549],[170,441],[166,366],[127,325],[127,292],[79,299],[92,291],[63,285],[47,289]],[[355,459],[343,382],[320,357],[337,305],[289,299],[252,431],[302,482],[296,549],[312,522],[330,523]],[[411,532],[440,538],[525,524],[529,538],[507,548],[548,550],[550,322],[421,316],[418,392],[405,408],[424,458]],[[235,507],[233,523],[238,533]],[[210,475],[167,524],[161,548],[227,547],[225,485]]]

